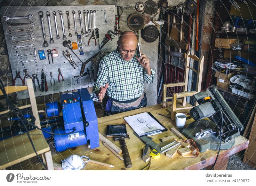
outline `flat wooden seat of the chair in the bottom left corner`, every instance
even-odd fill
[[[50,151],[50,147],[40,130],[32,130],[29,135],[38,154]],[[0,141],[0,169],[10,167],[34,156],[36,156],[36,153],[32,148],[27,133]]]

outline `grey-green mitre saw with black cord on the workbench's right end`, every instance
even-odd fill
[[[219,147],[230,149],[244,127],[220,92],[215,87],[209,88],[193,95],[192,102],[199,104],[190,110],[195,121],[183,129],[182,134],[192,138],[200,152]]]

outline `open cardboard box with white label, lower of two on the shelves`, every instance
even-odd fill
[[[216,71],[214,77],[217,78],[216,87],[220,87],[221,89],[228,90],[231,82],[229,81],[231,77],[236,75],[236,72],[229,73],[228,75],[225,73],[220,73]]]

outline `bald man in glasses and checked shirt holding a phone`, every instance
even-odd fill
[[[100,61],[91,97],[93,101],[102,102],[107,94],[108,115],[147,105],[143,80],[153,83],[156,70],[150,67],[145,54],[137,56],[137,44],[138,39],[134,32],[122,32],[116,50]]]

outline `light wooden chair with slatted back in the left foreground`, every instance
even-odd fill
[[[35,125],[41,128],[32,79],[27,80],[27,86],[5,87],[6,94],[22,90],[28,90],[30,105],[24,105],[18,108],[23,109],[31,107],[32,113],[36,119]],[[2,91],[0,91],[0,95],[3,95]],[[11,111],[7,110],[0,112],[0,115],[8,112]],[[43,161],[46,163],[47,169],[54,170],[50,147],[46,142],[42,131],[38,129],[31,130],[29,131],[29,135],[32,139],[32,142],[34,143],[36,152],[38,154],[42,154]],[[7,138],[0,141],[0,170],[20,163],[21,161],[32,158],[34,156],[36,156],[36,153],[32,148],[27,133],[23,133],[21,135],[13,136],[12,138]]]

